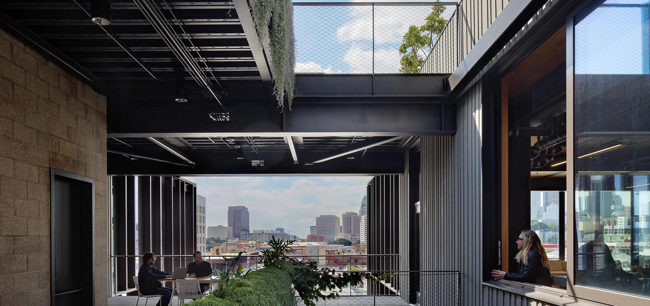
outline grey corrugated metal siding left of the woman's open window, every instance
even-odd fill
[[[421,139],[421,270],[459,270],[460,305],[472,306],[483,305],[480,86],[458,102],[456,135]]]

